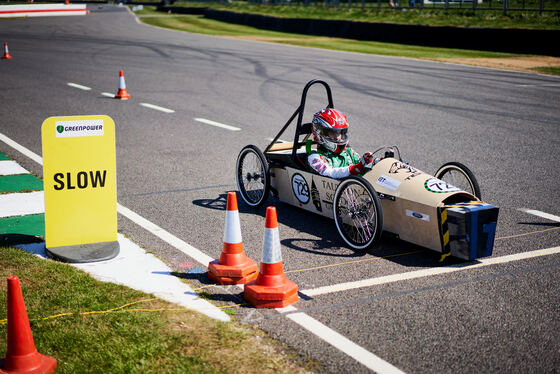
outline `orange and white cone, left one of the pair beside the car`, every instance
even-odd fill
[[[257,277],[257,263],[245,256],[235,192],[228,192],[224,244],[218,260],[208,264],[208,278],[220,284],[244,284]]]

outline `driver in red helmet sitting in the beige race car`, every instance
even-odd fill
[[[334,179],[363,174],[379,160],[371,152],[362,157],[348,146],[348,120],[344,113],[325,108],[313,115],[313,139],[317,151],[309,152],[309,167],[326,177]]]

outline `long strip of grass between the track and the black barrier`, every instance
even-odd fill
[[[347,52],[359,52],[377,54],[385,56],[410,57],[430,60],[445,60],[447,62],[458,62],[473,65],[483,65],[490,67],[501,67],[500,64],[493,64],[493,59],[504,59],[514,57],[527,57],[513,53],[475,51],[452,48],[422,47],[395,43],[382,43],[374,41],[360,41],[342,38],[317,37],[303,34],[291,34],[277,31],[257,29],[255,27],[220,22],[213,19],[204,18],[201,15],[173,15],[157,12],[155,7],[144,7],[137,12],[140,20],[153,26],[169,28],[178,31],[207,34],[215,36],[226,36],[266,42],[290,44],[302,47],[323,48]],[[159,16],[158,16],[159,15]],[[535,56],[535,59],[540,57]],[[484,59],[484,63],[474,63],[472,59]],[[560,59],[558,59],[560,67]],[[538,62],[537,62],[538,65]],[[515,65],[508,66],[515,69]],[[519,68],[517,70],[530,72],[545,72],[547,74],[558,74],[553,66],[546,66],[543,70],[539,66],[531,68]]]

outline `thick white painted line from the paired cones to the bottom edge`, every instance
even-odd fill
[[[296,313],[287,314],[286,318],[294,321],[295,323],[297,323],[307,331],[316,335],[321,340],[329,343],[330,345],[337,348],[338,350],[346,353],[348,356],[352,357],[354,360],[366,366],[368,369],[375,371],[376,373],[379,374],[404,373],[400,369],[391,365],[387,361],[384,361],[383,359],[377,357],[373,353],[365,350],[358,344],[354,343],[353,341],[349,340],[345,336],[334,331],[330,327],[322,324],[321,322],[317,321],[313,317],[310,317],[309,315],[303,312],[297,312],[297,309],[293,306],[288,306],[276,310],[278,310],[280,313],[296,312]]]

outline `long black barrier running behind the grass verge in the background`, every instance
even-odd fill
[[[296,19],[207,8],[207,18],[260,29],[429,47],[560,56],[560,30],[494,29]]]

